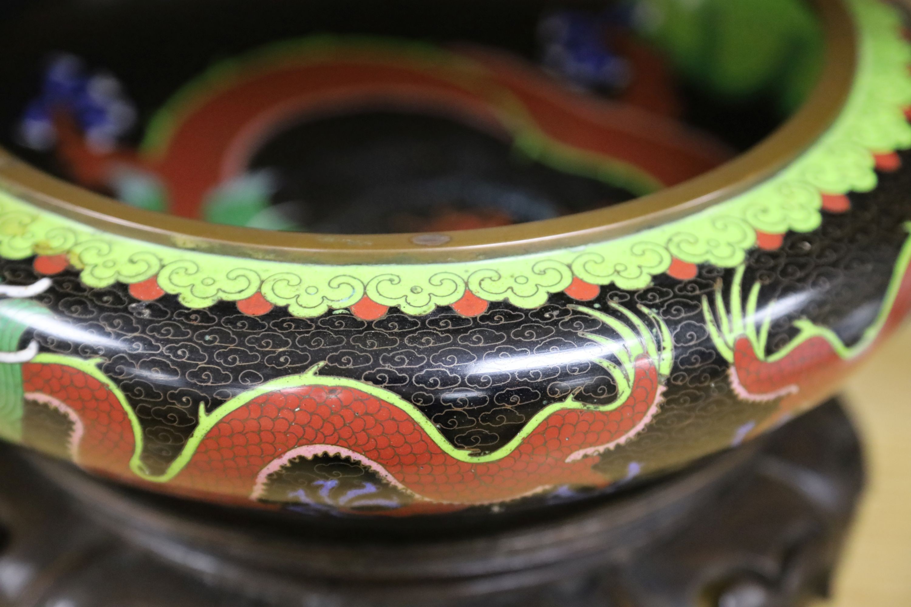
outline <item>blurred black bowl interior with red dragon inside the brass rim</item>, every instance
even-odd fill
[[[10,5],[0,144],[122,204],[324,234],[496,228],[697,177],[801,106],[804,0]]]

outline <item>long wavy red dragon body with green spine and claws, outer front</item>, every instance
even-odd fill
[[[577,309],[620,337],[585,334],[602,347],[602,357],[619,360],[595,360],[617,384],[615,402],[599,407],[570,395],[540,411],[509,444],[486,454],[456,449],[393,392],[318,375],[322,364],[241,394],[211,413],[200,409],[197,431],[158,475],[142,463],[142,430],[97,360],[38,354],[23,365],[24,390],[26,400],[72,421],[68,451],[81,466],[140,485],[155,483],[159,491],[262,500],[271,475],[293,460],[340,456],[411,496],[412,511],[496,503],[557,485],[609,484],[592,470],[596,456],[638,434],[659,410],[673,358],[669,330],[648,309],[641,310],[654,328],[628,309],[611,307],[623,321]]]

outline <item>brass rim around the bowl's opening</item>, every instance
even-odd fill
[[[37,207],[92,228],[222,255],[325,264],[442,263],[578,247],[660,226],[772,177],[832,125],[850,93],[857,34],[844,0],[814,0],[824,29],[819,81],[770,136],[680,185],[619,205],[502,228],[418,234],[312,234],[238,228],[129,207],[26,165],[0,147],[0,186]]]

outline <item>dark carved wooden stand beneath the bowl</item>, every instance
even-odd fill
[[[649,485],[485,521],[254,515],[3,447],[0,605],[797,605],[827,592],[862,485],[837,402]]]

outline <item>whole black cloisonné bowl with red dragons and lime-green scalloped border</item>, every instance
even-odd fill
[[[911,307],[896,5],[211,4],[0,13],[5,440],[537,506],[776,428]]]

